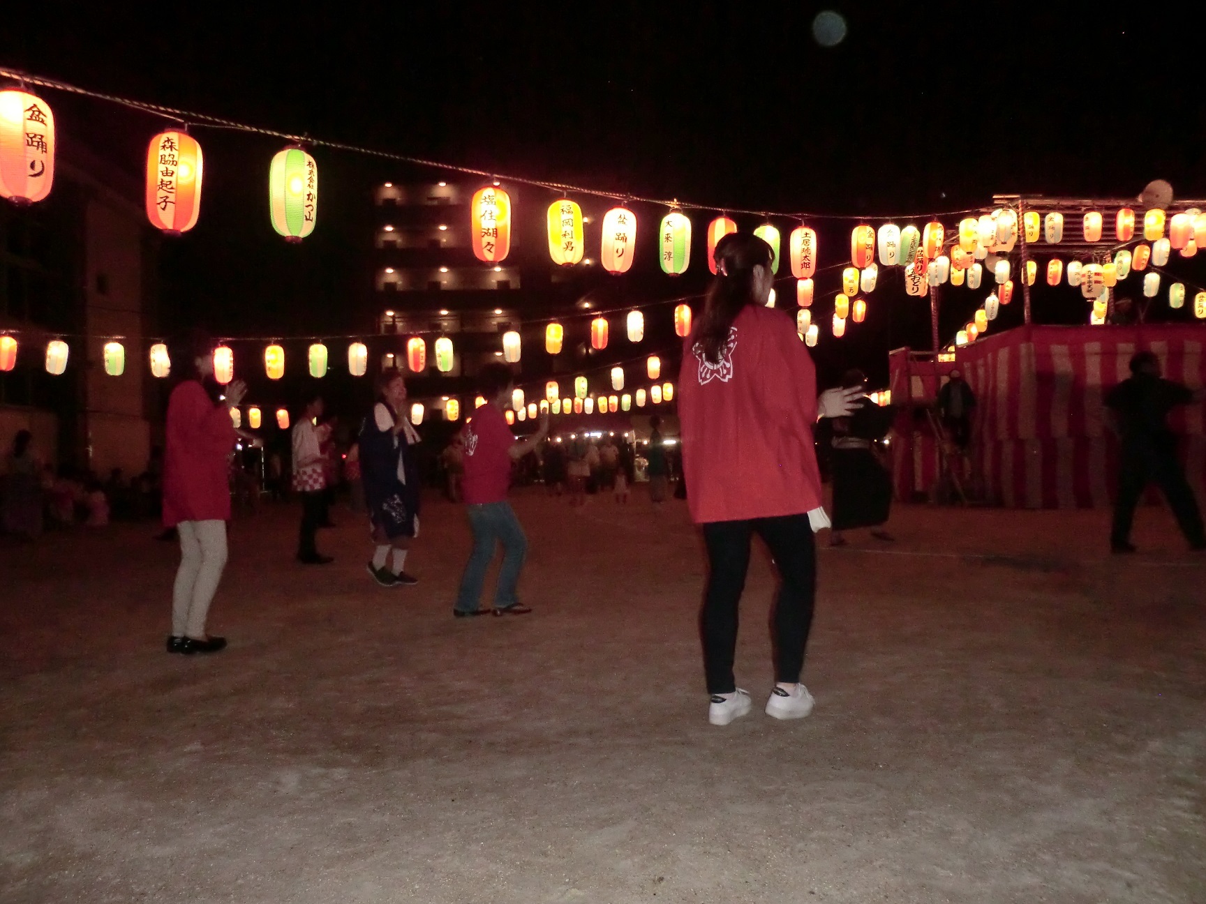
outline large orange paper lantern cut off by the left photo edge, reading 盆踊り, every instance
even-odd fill
[[[51,105],[25,90],[0,90],[0,195],[14,204],[33,204],[51,193],[53,182]]]

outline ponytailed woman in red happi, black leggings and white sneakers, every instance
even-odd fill
[[[813,532],[829,527],[813,450],[813,422],[849,415],[861,388],[815,395],[816,377],[795,324],[766,307],[773,252],[757,236],[726,235],[718,275],[687,337],[679,376],[683,464],[692,519],[702,526],[709,575],[701,614],[708,721],[750,711],[733,679],[737,610],[759,534],[779,571],[774,605],[775,686],[766,712],[801,718],[813,698],[800,683],[816,592]]]

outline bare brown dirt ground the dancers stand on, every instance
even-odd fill
[[[213,657],[164,652],[153,526],[0,544],[0,900],[1206,900],[1206,557],[1165,510],[1126,559],[1103,512],[822,548],[798,722],[757,553],[715,728],[685,504],[519,493],[505,620],[451,617],[468,529],[426,505],[412,589],[345,510],[323,569],[289,506],[236,521]]]

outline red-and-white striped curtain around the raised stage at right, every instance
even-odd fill
[[[1206,327],[1021,327],[960,348],[956,360],[918,362],[892,353],[892,401],[903,403],[897,424],[895,477],[902,498],[927,492],[938,476],[938,453],[925,421],[908,401],[936,395],[942,377],[959,368],[978,406],[973,465],[990,501],[1009,507],[1107,506],[1117,483],[1118,444],[1106,425],[1105,393],[1130,375],[1130,358],[1152,351],[1164,375],[1190,388],[1206,386]],[[1206,407],[1178,409],[1170,423],[1199,499],[1206,489]]]

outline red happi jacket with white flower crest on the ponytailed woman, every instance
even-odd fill
[[[816,372],[781,311],[750,305],[719,364],[690,337],[679,374],[683,471],[696,523],[798,515],[821,505],[813,448]]]

